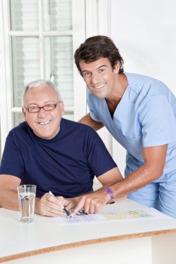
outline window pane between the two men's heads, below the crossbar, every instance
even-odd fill
[[[74,106],[72,37],[45,38],[45,78],[54,74],[65,106]]]

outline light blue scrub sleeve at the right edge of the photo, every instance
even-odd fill
[[[143,133],[143,147],[168,144],[176,140],[176,121],[173,108],[163,95],[147,99],[139,119]]]

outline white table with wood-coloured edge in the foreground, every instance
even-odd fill
[[[129,199],[103,211],[145,210]],[[47,254],[45,254],[47,253]],[[25,257],[25,258],[24,258]],[[35,215],[19,222],[19,212],[0,208],[0,263],[176,263],[176,220],[118,220],[61,225]]]

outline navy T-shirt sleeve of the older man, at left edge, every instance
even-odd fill
[[[1,160],[0,174],[9,174],[22,179],[24,162],[22,154],[13,139],[8,135]]]

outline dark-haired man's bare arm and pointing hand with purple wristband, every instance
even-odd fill
[[[83,208],[86,213],[98,213],[101,206],[125,197],[129,193],[159,179],[161,174],[163,174],[166,152],[167,145],[144,148],[144,165],[128,174],[125,179],[119,179],[116,183],[109,185],[113,192],[113,199],[111,199],[112,195],[109,195],[109,192],[105,188],[97,190],[90,195],[84,195],[74,208],[72,215],[75,215],[80,208]]]

